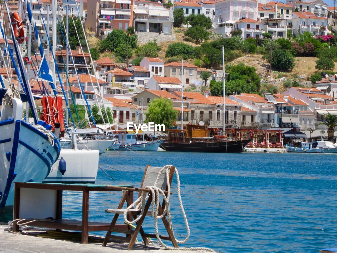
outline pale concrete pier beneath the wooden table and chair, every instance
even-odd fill
[[[135,243],[131,251],[127,250],[126,243],[109,243],[107,247],[102,247],[99,241],[89,241],[88,244],[81,244],[80,241],[63,241],[50,238],[40,238],[33,235],[34,231],[27,231],[21,234],[13,234],[4,231],[8,226],[0,225],[0,252],[1,253],[177,253],[173,250],[165,250],[157,245],[145,247],[141,243]],[[36,232],[36,231],[35,231]],[[31,235],[29,235],[31,234]],[[35,233],[36,234],[36,233]],[[95,236],[102,240],[101,237]],[[183,245],[182,245],[183,247]],[[196,246],[197,247],[197,246]],[[181,251],[182,252],[182,251]],[[197,251],[183,251],[184,253],[195,253]]]

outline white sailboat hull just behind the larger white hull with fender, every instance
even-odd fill
[[[70,140],[61,140],[60,142],[62,148],[71,148]],[[113,143],[114,140],[83,140],[77,141],[77,148],[98,150],[99,154],[102,154]]]

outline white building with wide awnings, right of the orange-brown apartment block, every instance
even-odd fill
[[[172,33],[173,7],[134,5],[133,26],[137,32]]]

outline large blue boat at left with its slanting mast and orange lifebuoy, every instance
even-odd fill
[[[14,15],[9,13],[6,0],[4,3],[8,19],[11,20]],[[23,27],[21,20],[16,19],[13,23],[15,23],[16,29]],[[10,22],[10,27],[12,37],[16,38],[13,43],[20,68],[20,73],[17,72],[17,74],[20,75],[19,82],[24,86],[27,94],[34,125],[21,120],[23,103],[20,100],[18,88],[14,83],[11,83],[2,100],[0,119],[0,164],[2,164],[0,169],[0,215],[8,212],[9,217],[12,215],[14,202],[13,182],[42,182],[49,175],[61,150],[58,139],[51,132],[51,125],[38,118],[29,78],[19,48],[20,40],[17,39],[18,36],[15,33],[18,30],[13,29],[12,22]],[[1,30],[3,32],[2,27]],[[17,33],[17,35],[19,34]],[[4,33],[3,37],[6,40]],[[13,64],[16,65],[15,62]],[[2,220],[5,218],[2,217]]]

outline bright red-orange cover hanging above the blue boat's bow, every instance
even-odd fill
[[[44,96],[42,97],[42,110],[41,120],[52,125],[52,131],[55,130],[55,123],[61,124],[61,132],[64,132],[64,121],[63,121],[63,108],[62,108],[62,97],[56,96]]]

